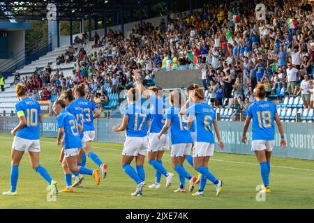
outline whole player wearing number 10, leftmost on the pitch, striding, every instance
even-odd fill
[[[20,119],[20,123],[11,131],[14,136],[11,151],[11,188],[3,195],[17,194],[17,179],[19,178],[19,165],[24,152],[28,151],[31,167],[42,176],[50,185],[52,195],[58,193],[57,182],[52,180],[47,170],[39,164],[40,142],[39,123],[43,123],[43,116],[40,114],[40,105],[36,100],[29,98],[27,87],[17,84],[15,87],[17,98],[20,102],[15,104],[15,112]]]

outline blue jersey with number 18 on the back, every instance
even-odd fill
[[[246,116],[251,116],[253,118],[253,140],[274,140],[274,119],[276,113],[277,109],[275,105],[264,100],[254,102],[248,107]]]

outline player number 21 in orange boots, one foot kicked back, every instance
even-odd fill
[[[80,148],[82,148],[82,142],[80,138],[80,132],[82,132],[82,126],[76,121],[75,116],[66,112],[66,103],[58,99],[54,102],[54,113],[57,115],[58,122],[58,137],[57,145],[63,145],[64,157],[62,161],[64,178],[66,180],[66,188],[60,192],[74,192],[72,187],[72,174],[71,172],[77,172],[80,174],[91,175],[96,179],[96,185],[100,183],[99,170],[87,169],[77,165],[78,155],[80,154]]]

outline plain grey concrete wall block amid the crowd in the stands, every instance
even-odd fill
[[[185,88],[190,84],[202,86],[202,72],[199,69],[156,72],[155,80],[163,89]]]

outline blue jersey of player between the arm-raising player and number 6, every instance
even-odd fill
[[[179,115],[180,109],[177,107],[170,107],[166,111],[166,119],[171,121],[171,143],[184,144],[192,143],[193,139],[188,130],[188,117]]]

